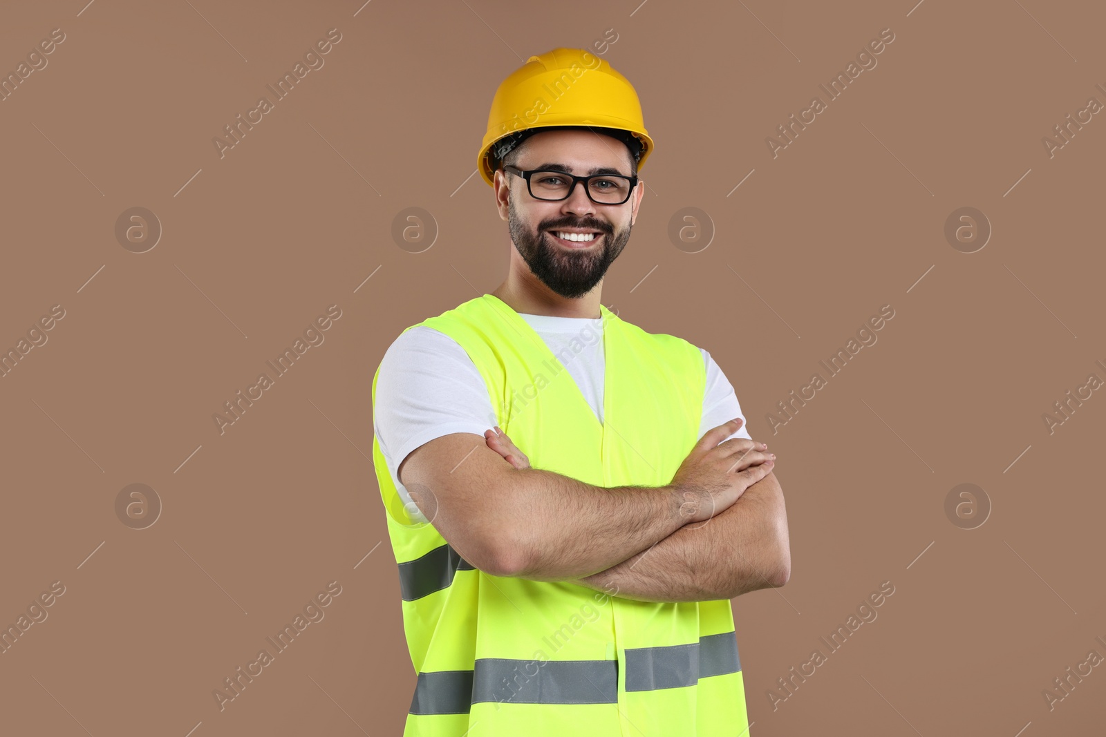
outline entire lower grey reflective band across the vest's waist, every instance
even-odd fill
[[[693,686],[741,670],[733,632],[699,642],[626,650],[626,691]],[[411,714],[467,714],[471,704],[616,704],[618,661],[481,657],[474,671],[418,674]]]

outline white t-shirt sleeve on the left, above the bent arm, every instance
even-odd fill
[[[419,445],[455,432],[483,435],[498,422],[483,377],[449,336],[419,325],[385,351],[373,430],[397,486],[396,470]]]

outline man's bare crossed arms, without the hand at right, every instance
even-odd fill
[[[791,573],[783,492],[771,472],[717,514],[699,487],[592,486],[518,463],[517,449],[509,456],[474,433],[420,445],[398,475],[453,549],[493,576],[670,602],[732,599],[784,586]]]

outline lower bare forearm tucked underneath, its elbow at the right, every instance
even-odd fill
[[[638,601],[710,601],[783,586],[790,572],[783,491],[770,473],[708,522],[577,582]]]

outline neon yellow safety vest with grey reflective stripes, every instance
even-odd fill
[[[419,325],[465,348],[498,424],[531,466],[603,487],[667,485],[699,440],[702,354],[599,310],[603,423],[562,360],[498,297]],[[378,376],[379,368],[374,406]],[[405,737],[748,734],[728,600],[650,603],[489,576],[461,559],[432,519],[408,514],[418,512],[405,509],[375,436],[373,463],[418,674]]]

